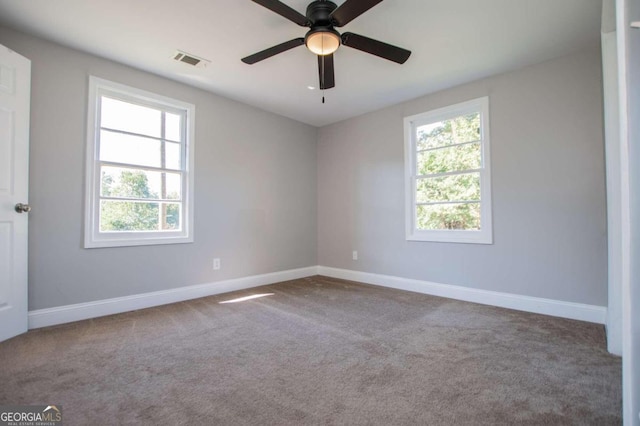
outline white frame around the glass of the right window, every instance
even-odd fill
[[[427,124],[461,115],[480,113],[481,166],[480,173],[480,230],[424,230],[416,227],[417,148],[416,129]],[[405,132],[405,226],[409,241],[493,244],[491,216],[491,147],[489,141],[489,97],[485,96],[444,108],[416,114],[404,119]]]

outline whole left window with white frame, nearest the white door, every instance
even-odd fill
[[[194,106],[89,81],[85,247],[193,241]]]

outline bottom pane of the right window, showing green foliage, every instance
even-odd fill
[[[480,203],[417,206],[416,228],[480,230]]]

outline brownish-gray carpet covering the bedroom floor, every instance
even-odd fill
[[[312,277],[0,343],[0,404],[67,425],[620,424],[605,346],[599,325]]]

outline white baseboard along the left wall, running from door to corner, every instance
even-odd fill
[[[97,300],[95,302],[78,303],[55,308],[37,309],[29,311],[29,328],[47,327],[64,324],[105,315],[135,311],[136,309],[151,308],[153,306],[182,302],[199,297],[244,290],[261,285],[273,284],[281,281],[294,280],[317,275],[318,268],[290,269],[269,274],[253,275],[231,280],[216,281],[171,290],[154,291],[133,296],[116,297],[113,299]]]

